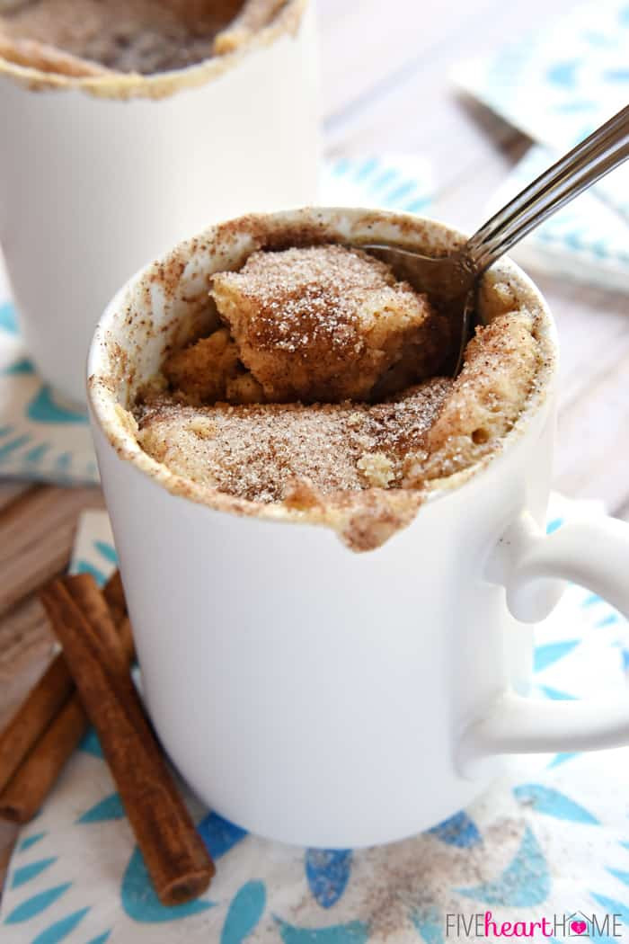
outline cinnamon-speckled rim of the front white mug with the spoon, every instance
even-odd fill
[[[264,503],[247,498],[240,498],[222,492],[217,488],[208,485],[201,485],[184,476],[177,475],[166,465],[157,462],[152,456],[144,452],[138,440],[136,430],[132,429],[127,408],[118,404],[119,387],[114,384],[112,379],[107,378],[107,372],[102,372],[104,359],[107,359],[107,332],[109,326],[114,325],[116,321],[127,317],[129,307],[132,304],[133,295],[138,295],[142,282],[148,285],[151,276],[160,272],[163,276],[164,270],[171,271],[169,266],[174,261],[181,258],[181,254],[193,251],[198,244],[207,247],[212,239],[220,238],[221,229],[241,223],[243,221],[261,223],[272,221],[274,223],[285,222],[293,226],[304,225],[308,221],[319,218],[327,220],[327,226],[332,227],[331,219],[335,214],[348,215],[349,218],[361,217],[371,218],[384,224],[410,228],[411,231],[417,228],[425,228],[426,233],[437,233],[441,239],[451,244],[462,244],[467,236],[459,230],[441,223],[439,220],[430,217],[418,216],[416,214],[370,210],[363,208],[339,208],[339,207],[309,207],[298,210],[279,211],[275,213],[257,213],[247,216],[240,216],[234,220],[225,223],[215,224],[202,233],[189,240],[177,244],[171,252],[165,254],[157,261],[150,262],[143,266],[134,276],[129,278],[120,291],[114,295],[109,302],[105,312],[98,321],[94,331],[87,362],[87,395],[90,407],[91,423],[97,426],[100,432],[108,441],[108,445],[113,447],[119,459],[133,465],[137,471],[148,479],[155,480],[157,485],[164,488],[171,495],[183,497],[194,504],[201,504],[206,508],[225,514],[235,514],[260,520],[272,520],[280,523],[298,523],[325,525],[332,530],[339,531],[335,527],[334,519],[336,515],[322,514],[320,510],[296,510],[286,507],[277,502]],[[371,237],[373,233],[369,234]],[[382,237],[380,237],[382,238]],[[411,243],[408,242],[410,245]],[[251,250],[253,251],[253,250]],[[217,270],[218,271],[218,270]],[[489,470],[496,468],[497,464],[505,461],[513,451],[515,445],[520,442],[523,435],[534,425],[543,408],[547,406],[555,391],[555,379],[557,374],[557,336],[555,320],[550,308],[539,291],[538,287],[529,278],[515,262],[508,258],[503,258],[491,267],[491,275],[500,281],[502,278],[517,281],[517,297],[521,301],[529,298],[542,315],[542,330],[540,336],[543,338],[544,358],[538,365],[538,382],[534,390],[529,394],[521,413],[510,430],[501,437],[500,445],[492,450],[477,463],[466,468],[460,469],[447,480],[440,480],[439,487],[422,489],[418,493],[417,503],[410,516],[412,522],[417,516],[421,515],[422,506],[437,500],[443,500],[448,496],[453,496],[460,492],[466,485],[471,485],[479,478],[483,477]],[[500,277],[500,278],[498,278]],[[125,356],[125,355],[124,355]],[[99,374],[99,368],[101,373]],[[133,367],[131,367],[133,374]],[[403,499],[406,500],[407,507],[412,507],[413,503],[409,496],[413,493],[411,490],[391,489],[388,493],[404,493]],[[401,526],[402,527],[402,526]]]

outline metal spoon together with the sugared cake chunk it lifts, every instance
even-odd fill
[[[170,353],[164,379],[199,405],[380,402],[457,377],[483,320],[482,273],[627,157],[629,107],[439,258],[369,239],[261,240],[240,266],[214,273],[207,333]]]

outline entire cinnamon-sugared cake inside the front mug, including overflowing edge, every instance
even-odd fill
[[[138,443],[195,487],[378,547],[436,482],[494,453],[536,389],[539,312],[508,283],[490,305],[484,291],[490,324],[439,377],[454,332],[384,262],[333,244],[253,252],[213,275],[209,333],[141,391]]]

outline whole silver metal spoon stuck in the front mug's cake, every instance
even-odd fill
[[[453,320],[460,319],[456,377],[463,364],[472,319],[479,317],[474,309],[474,290],[483,272],[532,229],[627,158],[629,106],[557,160],[455,252],[432,258],[388,244],[360,243],[356,247],[389,262],[415,288],[437,303],[447,303]]]

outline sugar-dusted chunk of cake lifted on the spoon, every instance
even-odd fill
[[[414,382],[434,376],[449,351],[448,322],[426,296],[357,249],[255,252],[212,282],[240,359],[270,401],[368,399],[409,348]]]

